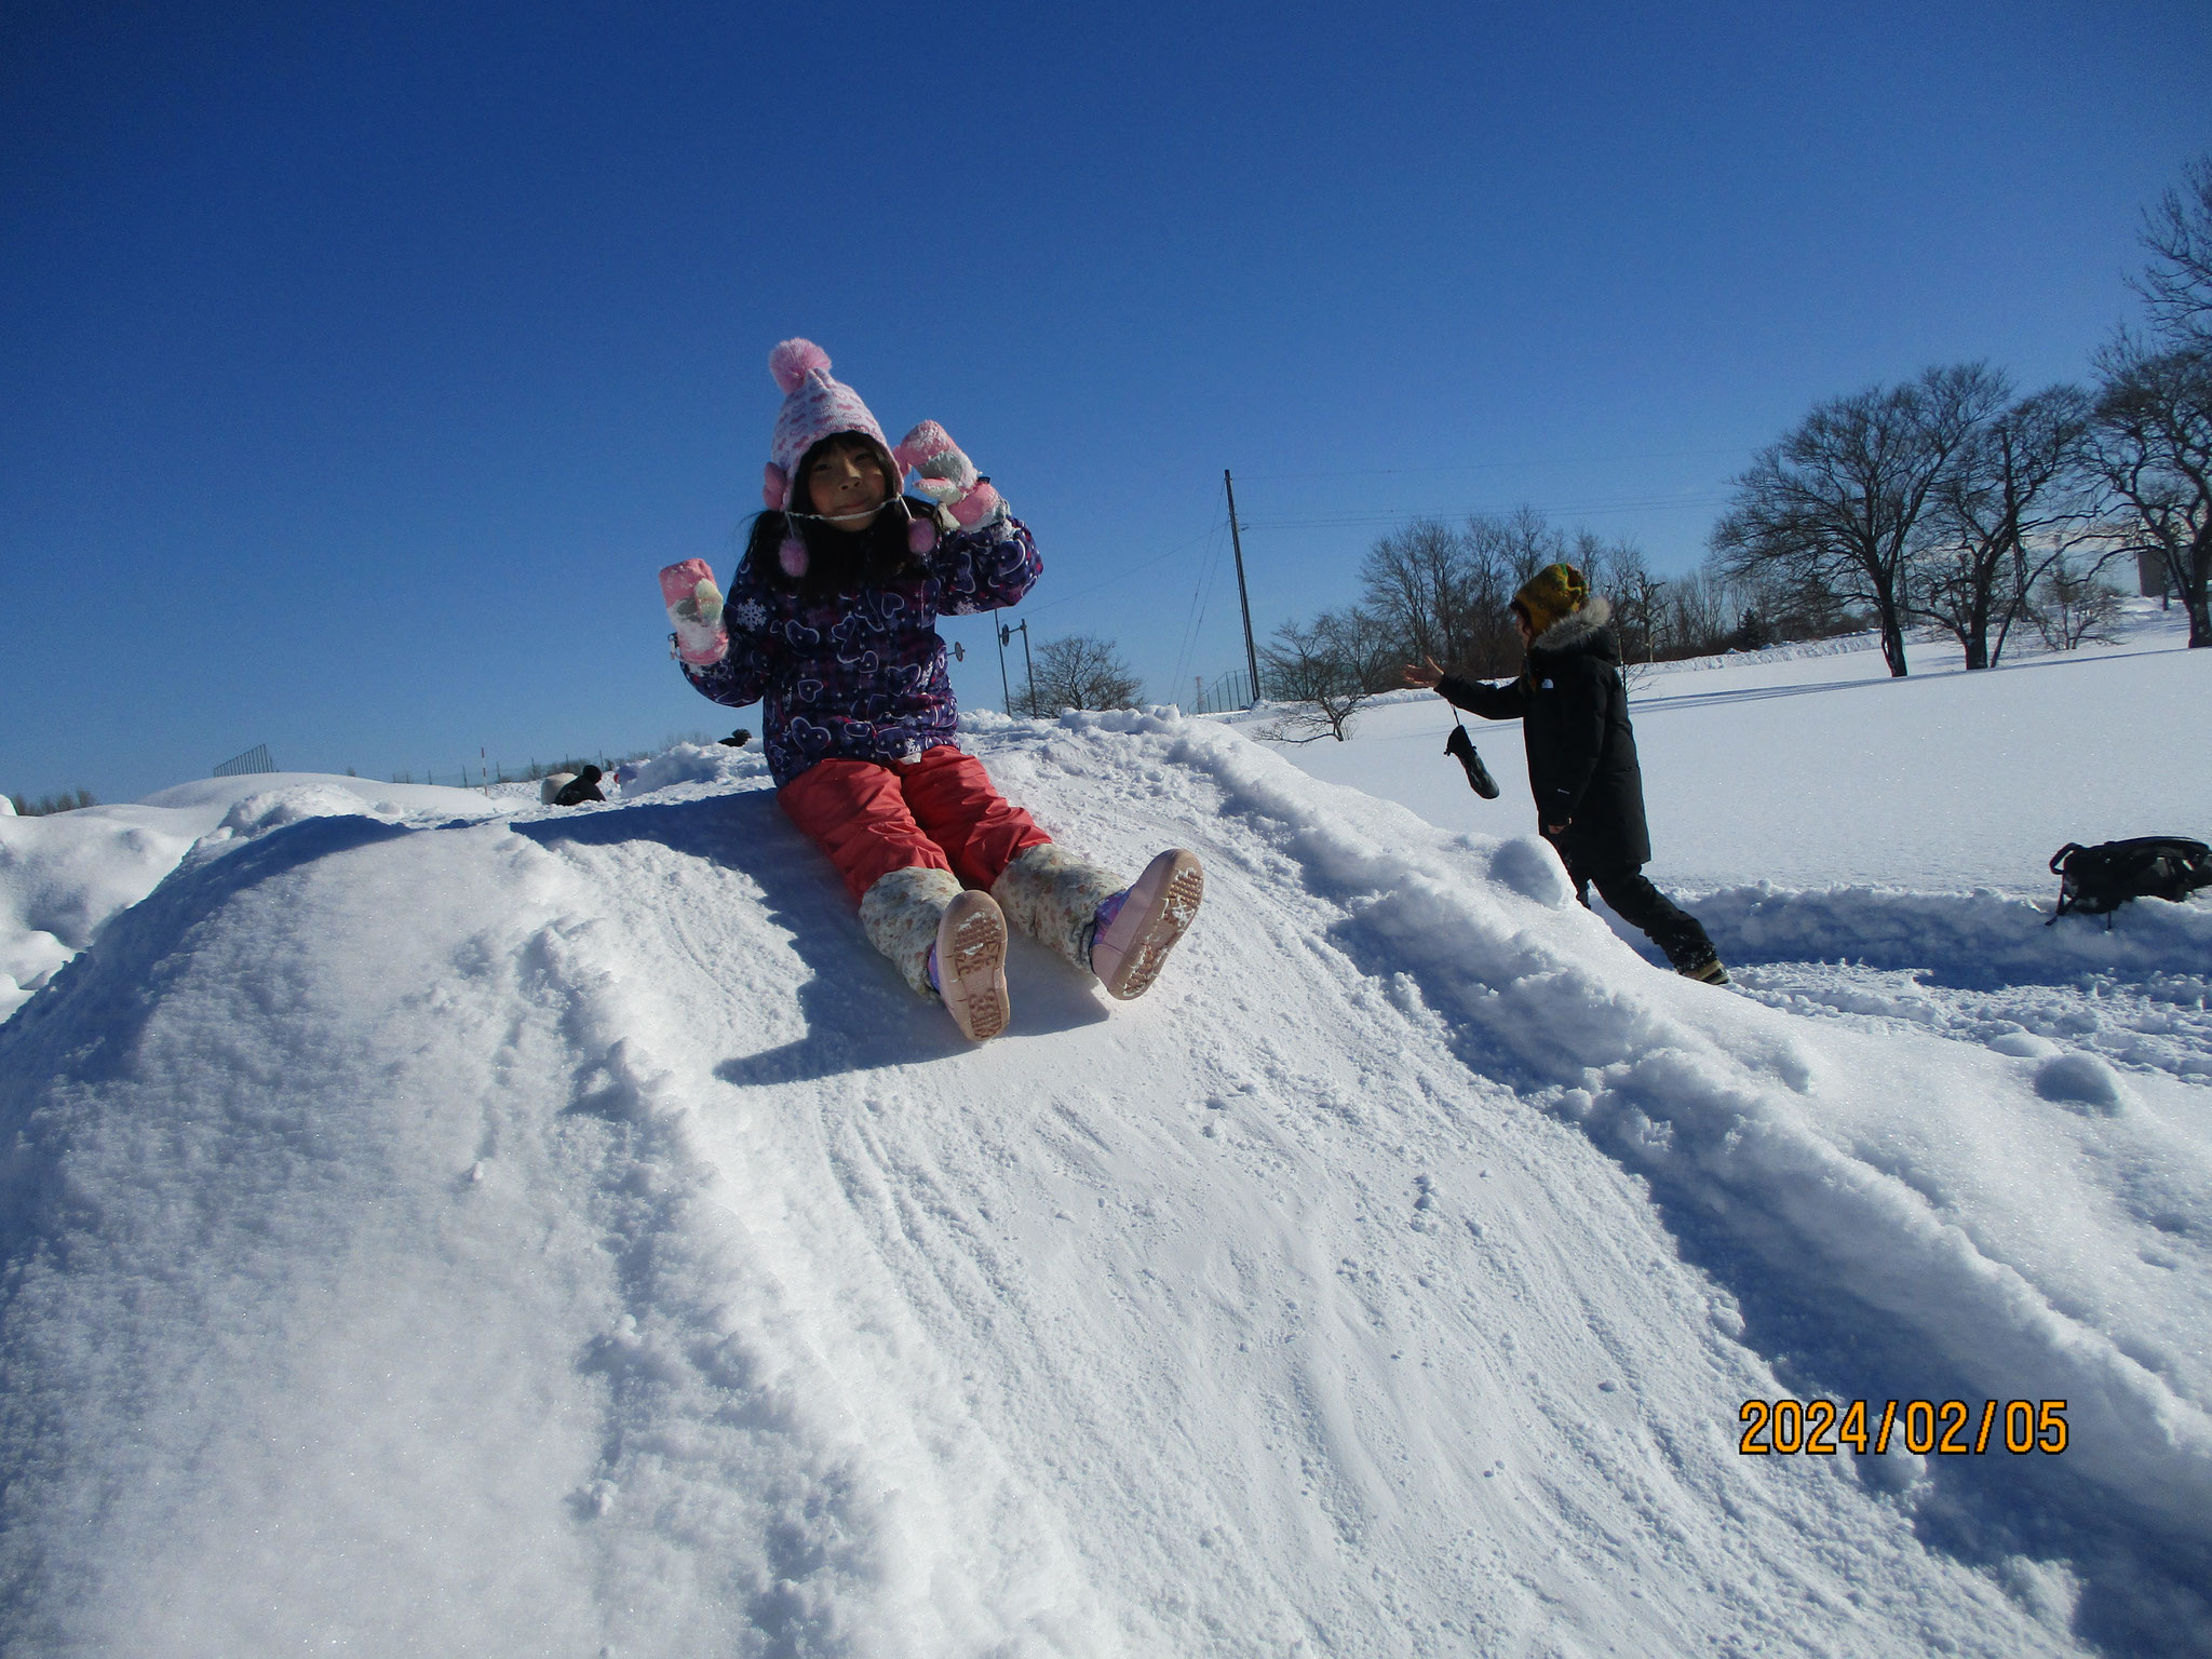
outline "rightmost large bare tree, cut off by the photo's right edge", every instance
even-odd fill
[[[2152,352],[2124,334],[2097,367],[2090,453],[2126,504],[2117,551],[2163,560],[2190,613],[2190,646],[2212,646],[2212,347]]]

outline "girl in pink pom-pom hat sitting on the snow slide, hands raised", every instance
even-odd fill
[[[812,341],[768,354],[783,389],[768,511],[728,602],[701,560],[661,571],[684,677],[761,703],[776,803],[860,902],[869,942],[973,1042],[1006,1026],[1006,920],[1128,1000],[1203,894],[1170,847],[1135,883],[1064,852],[956,739],[940,615],[1015,604],[1035,542],[925,420],[898,449]],[[927,500],[900,493],[907,469]]]

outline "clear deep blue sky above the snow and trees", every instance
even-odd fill
[[[732,566],[790,334],[1159,701],[1243,655],[1223,467],[1263,635],[1418,511],[1690,568],[1818,398],[2086,376],[2208,71],[2201,0],[15,0],[0,792],[728,730],[653,573]]]

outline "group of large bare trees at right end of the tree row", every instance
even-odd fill
[[[1814,407],[1759,451],[1712,531],[1736,580],[1865,606],[1891,675],[1913,624],[1991,668],[2031,619],[2073,644],[2097,573],[2141,560],[2212,646],[2212,157],[2146,217],[2150,334],[2097,352],[2097,385],[2017,396],[1986,363]]]

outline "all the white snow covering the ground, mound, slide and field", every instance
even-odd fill
[[[0,818],[0,1650],[2212,1652],[2212,902],[2028,902],[2212,838],[2212,653],[1878,677],[1637,692],[1739,991],[1436,699],[980,714],[1208,867],[982,1048],[750,754]],[[1891,1444],[1743,1455],[1776,1398]]]

